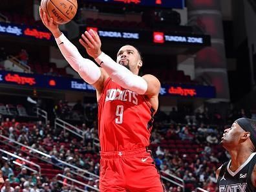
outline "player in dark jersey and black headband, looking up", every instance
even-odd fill
[[[256,121],[240,118],[224,131],[221,144],[231,155],[216,172],[220,192],[256,191]]]

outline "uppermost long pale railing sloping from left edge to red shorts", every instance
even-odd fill
[[[2,134],[0,134],[0,138],[4,138],[5,140],[8,140],[9,142],[12,142],[14,144],[17,144],[17,145],[20,145],[22,147],[26,147],[27,149],[29,149],[30,151],[33,151],[35,153],[38,153],[39,155],[42,155],[42,156],[45,156],[46,158],[48,159],[51,159],[52,156],[48,155],[47,153],[43,153],[41,151],[38,151],[37,149],[34,149],[32,147],[29,147],[27,145],[24,145],[24,144],[21,144],[19,142],[17,142],[16,140],[12,140],[6,136],[3,136]],[[0,139],[1,142],[3,142],[1,139]],[[81,178],[84,178],[85,180],[91,180],[92,178],[96,178],[98,179],[100,176],[98,175],[95,175],[94,173],[91,173],[90,171],[87,171],[85,169],[81,169],[80,167],[76,167],[75,165],[72,165],[72,164],[69,164],[67,162],[64,162],[62,160],[59,160],[57,159],[59,163],[61,163],[62,165],[56,165],[56,164],[53,164],[50,160],[47,161],[45,160],[45,162],[48,162],[50,164],[53,164],[53,165],[56,165],[57,167],[60,167],[60,168],[64,168],[64,167],[69,167],[70,168],[70,173],[73,173],[74,175],[78,175],[78,176],[81,176]],[[77,171],[78,173],[76,173],[75,171],[72,171],[72,170],[75,170]],[[91,177],[88,177],[88,176],[84,176],[84,175],[81,175],[81,173],[84,173],[84,174],[88,174],[90,175]]]

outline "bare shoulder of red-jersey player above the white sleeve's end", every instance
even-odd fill
[[[161,84],[160,81],[153,75],[146,74],[142,76],[144,80],[147,82],[147,91],[145,95],[147,96],[158,96]]]

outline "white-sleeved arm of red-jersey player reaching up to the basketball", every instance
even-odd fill
[[[48,21],[46,13],[39,8],[39,14],[45,27],[47,27],[56,39],[59,49],[70,66],[80,74],[87,83],[94,85],[96,89],[103,84],[103,74],[100,68],[90,59],[81,56],[78,49],[61,33],[58,24],[54,23],[52,17]],[[101,82],[102,81],[102,82]]]

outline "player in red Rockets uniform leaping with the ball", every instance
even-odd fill
[[[153,115],[158,109],[160,82],[155,76],[138,76],[142,58],[125,45],[117,61],[101,52],[100,37],[90,30],[80,43],[100,65],[83,58],[40,9],[44,25],[56,38],[61,53],[83,80],[96,88],[101,147],[101,192],[163,192],[151,151],[147,150]]]

